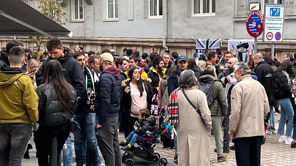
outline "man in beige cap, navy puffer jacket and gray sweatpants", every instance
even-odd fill
[[[100,56],[100,75],[96,88],[94,108],[98,122],[96,134],[99,148],[106,165],[121,165],[118,142],[118,112],[120,110],[121,80],[119,70],[112,67],[113,56],[103,53]]]

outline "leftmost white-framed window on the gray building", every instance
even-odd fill
[[[84,20],[84,0],[72,0],[72,20]]]

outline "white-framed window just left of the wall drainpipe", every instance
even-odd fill
[[[162,18],[163,0],[148,0],[149,18]]]

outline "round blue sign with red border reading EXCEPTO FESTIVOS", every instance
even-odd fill
[[[246,20],[248,34],[252,37],[261,35],[264,29],[264,17],[258,11],[252,11]]]

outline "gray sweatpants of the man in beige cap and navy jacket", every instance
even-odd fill
[[[117,129],[118,116],[107,117],[105,124],[96,129],[98,145],[106,166],[121,166]]]

